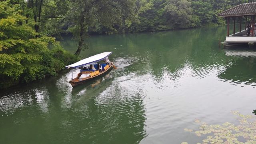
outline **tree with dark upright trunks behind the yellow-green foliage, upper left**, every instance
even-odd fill
[[[24,3],[24,0],[13,0],[16,4]],[[68,10],[66,0],[25,0],[26,23],[34,24],[34,29],[40,35],[60,36],[62,24]],[[24,5],[24,4],[22,4]],[[37,35],[38,36],[38,35]]]

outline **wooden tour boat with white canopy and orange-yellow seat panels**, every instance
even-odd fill
[[[104,74],[107,74],[110,72],[113,68],[116,68],[113,64],[113,62],[110,62],[108,59],[108,56],[112,54],[112,52],[103,52],[101,54],[96,54],[94,56],[91,56],[89,58],[85,58],[83,60],[80,60],[79,62],[76,62],[74,64],[71,64],[69,66],[66,66],[65,68],[81,68],[83,66],[92,65],[94,64],[95,70],[80,70],[80,73],[77,74],[76,78],[73,78],[69,81],[70,84],[74,87],[78,84],[82,84],[87,82],[88,80],[92,80],[94,78],[100,77]],[[101,68],[98,68],[98,65],[95,64],[96,62],[100,62],[104,60],[105,64],[100,64]]]

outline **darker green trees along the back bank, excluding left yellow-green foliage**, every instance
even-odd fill
[[[27,0],[36,7],[39,32],[72,34],[76,55],[90,34],[152,32],[225,24],[218,14],[255,0]]]

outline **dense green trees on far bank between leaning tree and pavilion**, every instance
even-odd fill
[[[220,12],[256,0],[137,0],[137,23],[130,32],[158,31],[226,24]]]

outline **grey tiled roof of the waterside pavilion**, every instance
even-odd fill
[[[218,14],[221,17],[256,15],[256,2],[240,4]]]

